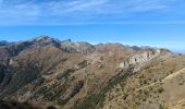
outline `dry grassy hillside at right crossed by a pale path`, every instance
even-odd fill
[[[110,89],[102,108],[174,109],[185,98],[184,69],[184,56],[152,60]]]

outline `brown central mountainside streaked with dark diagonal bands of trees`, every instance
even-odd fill
[[[52,102],[64,108],[73,107],[90,93],[99,92],[106,85],[104,83],[116,74],[121,62],[119,59],[112,53],[106,56],[92,53],[87,57],[71,55],[67,60],[59,62],[52,69],[49,69],[50,65],[47,64],[49,70],[46,73],[41,73],[46,71],[42,69],[38,78],[23,86],[10,97],[7,96],[7,99],[18,98],[23,101],[37,100],[42,104]]]

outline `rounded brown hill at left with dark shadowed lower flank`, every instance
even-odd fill
[[[5,68],[4,77],[1,82],[1,96],[16,92],[27,83],[37,80],[42,73],[47,73],[60,61],[66,60],[67,52],[54,46],[34,47],[21,51],[10,59]]]

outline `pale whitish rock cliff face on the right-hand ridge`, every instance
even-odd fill
[[[161,53],[160,49],[152,49],[152,50],[144,50],[131,57],[128,60],[123,61],[120,66],[127,68],[132,64],[143,63],[149,61]]]

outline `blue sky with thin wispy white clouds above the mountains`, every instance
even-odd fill
[[[38,35],[185,51],[184,0],[0,0],[0,40]]]

